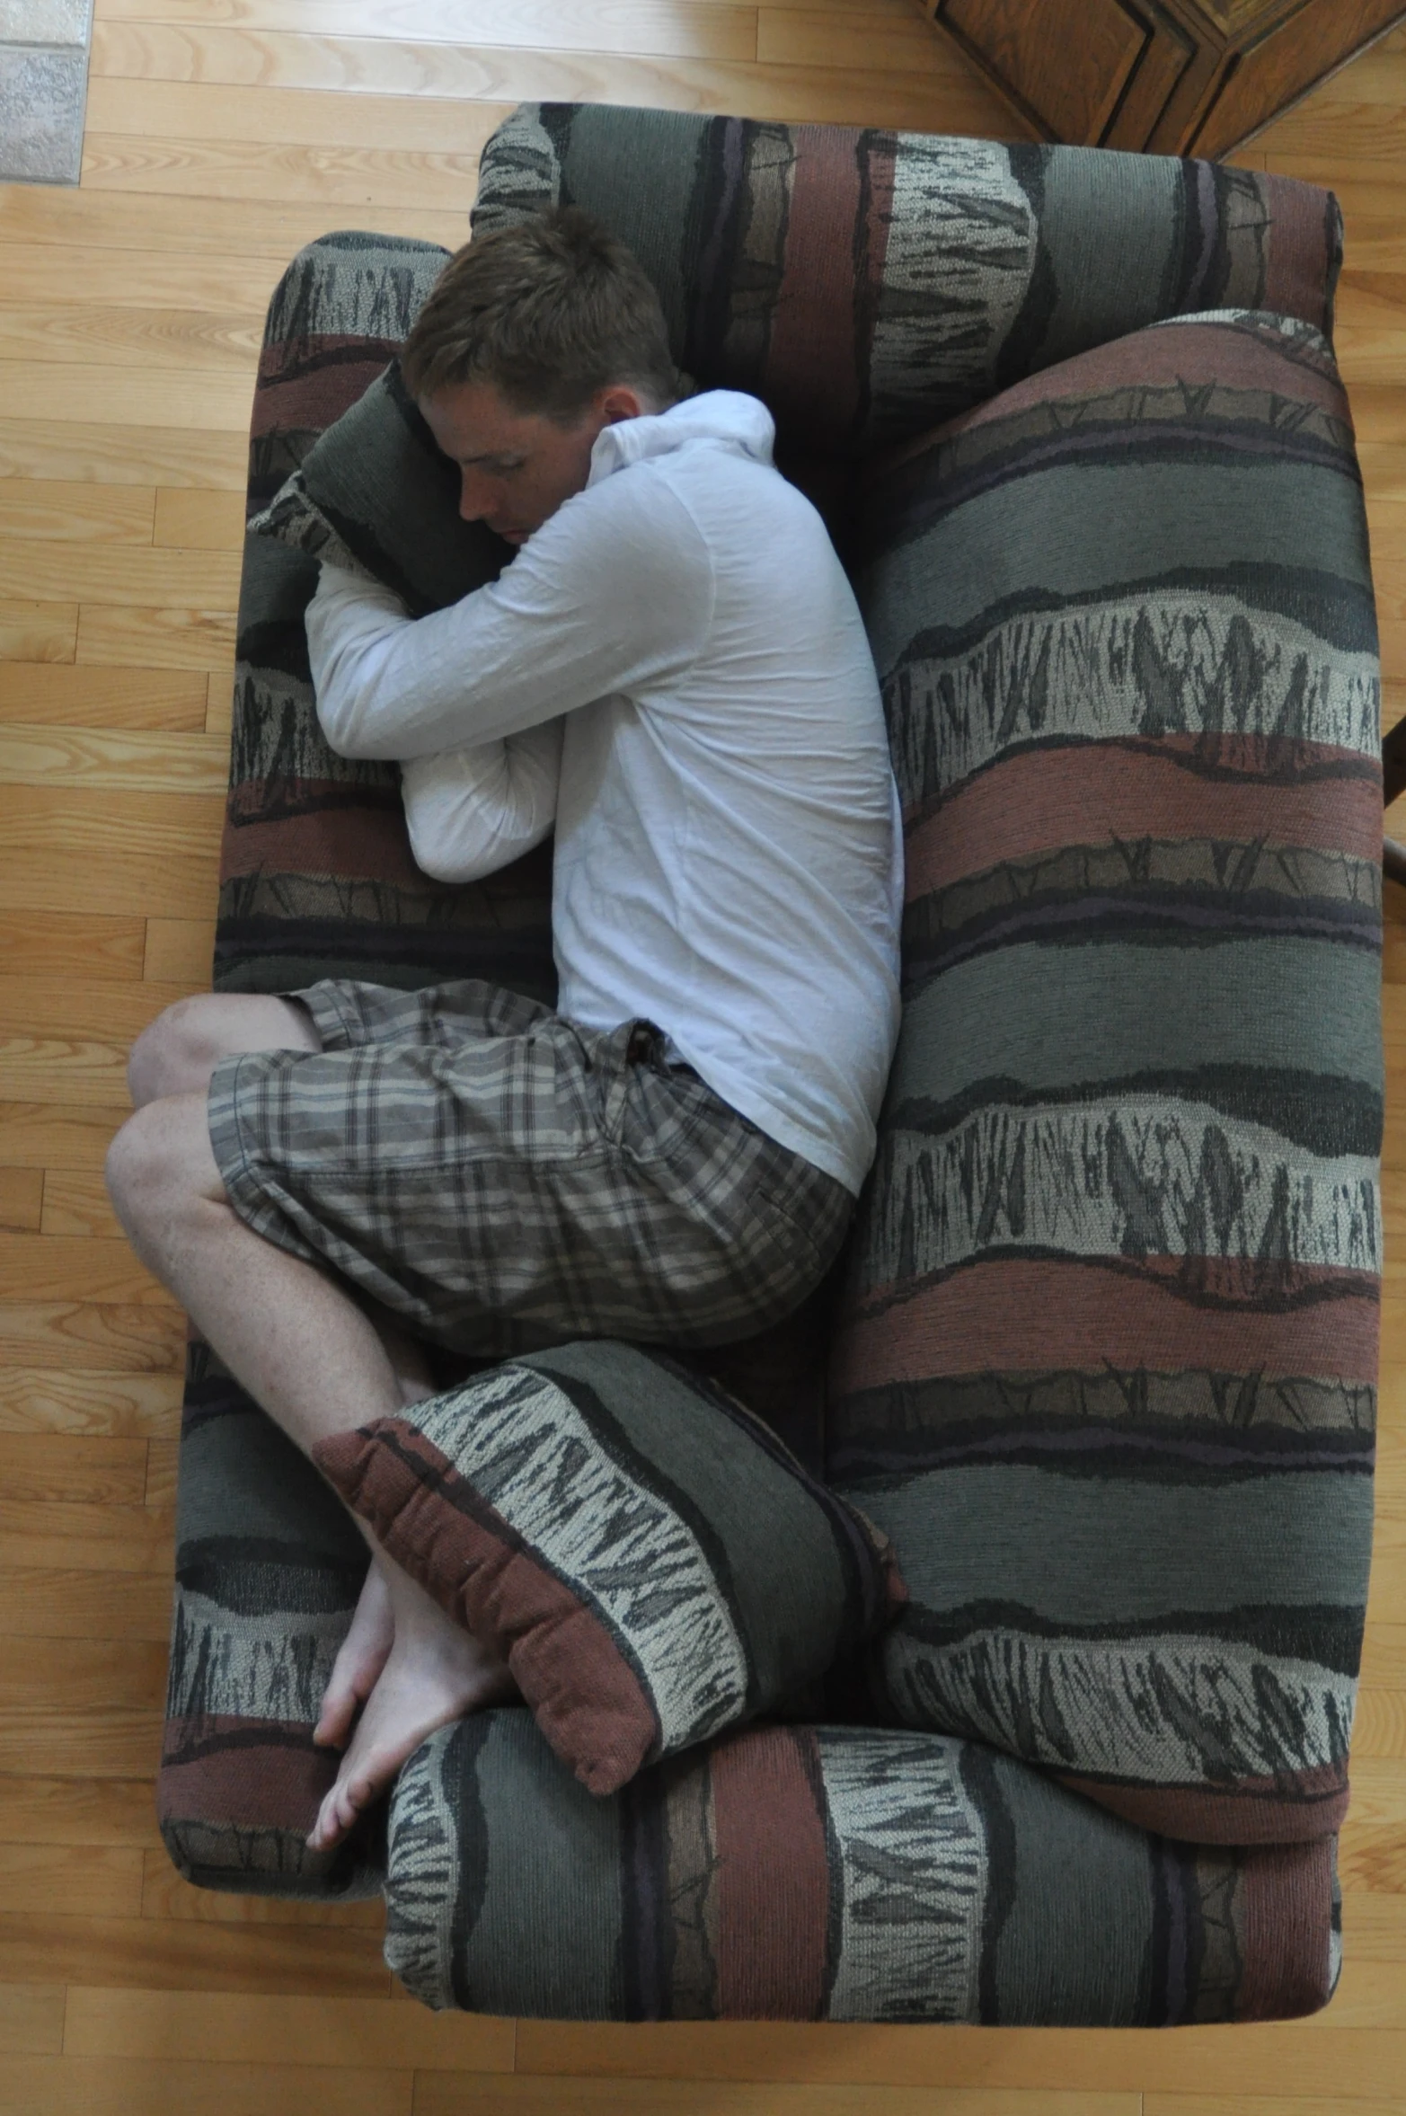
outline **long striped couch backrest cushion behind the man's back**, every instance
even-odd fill
[[[1203,1843],[1347,1805],[1381,1272],[1368,535],[1317,332],[1167,324],[875,482],[905,1020],[831,1469],[903,1720]]]

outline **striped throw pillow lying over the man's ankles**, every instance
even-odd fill
[[[592,1792],[776,1708],[903,1598],[759,1420],[626,1344],[512,1361],[315,1460]]]

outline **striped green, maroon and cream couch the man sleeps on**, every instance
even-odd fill
[[[364,1553],[190,1350],[161,1816],[209,1887],[387,1892],[436,2006],[1163,2025],[1309,2012],[1372,1519],[1372,582],[1309,186],[1083,148],[524,106],[476,229],[571,199],[759,394],[856,582],[907,817],[905,1016],[844,1278],[710,1365],[894,1538],[814,1722],[609,1799],[524,1712],[313,1856]],[[249,506],[442,252],[283,277]],[[249,542],[216,952],[554,990],[550,863],[427,880],[321,743],[307,557]],[[820,1386],[822,1371],[825,1386]],[[448,1375],[446,1375],[448,1380]]]

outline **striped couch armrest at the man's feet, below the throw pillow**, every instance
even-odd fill
[[[1163,2027],[1313,2010],[1338,1955],[1330,1843],[1169,1843],[939,1735],[748,1729],[592,1801],[482,1712],[391,1807],[387,1962],[429,2006]]]

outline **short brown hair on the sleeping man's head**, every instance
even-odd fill
[[[653,286],[624,243],[571,205],[465,243],[400,366],[414,398],[493,383],[514,411],[565,425],[611,383],[660,411],[683,391]]]

